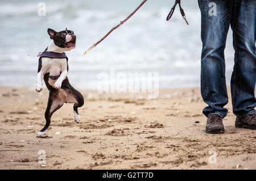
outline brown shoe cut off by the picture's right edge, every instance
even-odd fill
[[[236,128],[256,129],[256,113],[251,113],[242,119],[237,117],[235,126]]]

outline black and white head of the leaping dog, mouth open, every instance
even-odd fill
[[[54,44],[57,47],[65,48],[71,50],[76,47],[76,35],[71,30],[63,30],[60,32],[56,32],[51,28],[47,30],[50,39],[53,40]]]

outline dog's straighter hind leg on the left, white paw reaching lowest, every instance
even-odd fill
[[[46,118],[46,125],[44,125],[43,129],[41,129],[40,132],[36,134],[36,137],[42,137],[44,133],[46,133],[46,130],[51,123],[52,114],[55,111],[59,110],[59,108],[63,106],[63,104],[64,102],[61,98],[59,98],[58,96],[53,96],[53,94],[51,93],[49,94],[46,112],[44,113],[44,117]]]

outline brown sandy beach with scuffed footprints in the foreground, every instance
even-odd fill
[[[81,92],[81,123],[73,120],[73,104],[64,104],[46,137],[37,138],[46,87],[0,87],[0,169],[256,169],[256,131],[234,127],[230,99],[226,132],[206,134],[199,88],[160,90],[152,100]]]

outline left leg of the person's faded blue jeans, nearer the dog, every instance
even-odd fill
[[[199,0],[201,10],[201,95],[208,104],[203,113],[224,118],[228,110],[224,49],[232,17],[233,1]],[[215,12],[216,14],[214,14]]]

